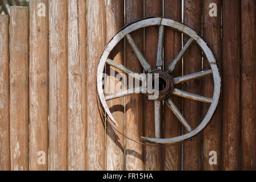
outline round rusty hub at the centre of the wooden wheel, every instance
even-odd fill
[[[173,75],[163,70],[154,70],[147,74],[147,94],[154,100],[165,100],[173,92]]]

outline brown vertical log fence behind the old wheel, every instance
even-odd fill
[[[217,16],[209,12],[217,5]],[[44,6],[45,5],[45,6]],[[125,11],[124,11],[125,10]],[[210,124],[193,139],[170,147],[142,146],[115,133],[101,118],[95,77],[103,47],[126,24],[148,16],[185,23],[201,34],[222,74],[222,97]],[[255,170],[256,1],[254,0],[30,0],[0,15],[1,170]],[[158,28],[131,34],[151,66]],[[166,28],[167,66],[187,38]],[[111,59],[143,69],[125,41]],[[208,67],[191,47],[174,75]],[[109,68],[107,68],[109,69]],[[211,96],[211,78],[179,86]],[[195,127],[209,105],[174,102]],[[154,137],[154,102],[141,94],[108,103],[118,130],[140,140]],[[163,137],[183,133],[163,105]],[[171,121],[171,122],[170,122]],[[210,164],[210,151],[217,163]]]

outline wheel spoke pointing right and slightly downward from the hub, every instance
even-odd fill
[[[201,102],[206,102],[206,103],[211,103],[211,102],[213,102],[213,99],[212,99],[212,98],[199,96],[199,95],[197,95],[197,94],[185,92],[185,91],[179,90],[179,89],[174,89],[174,90],[173,90],[173,94],[174,94],[175,96],[180,96],[180,97],[184,97],[184,98],[189,98],[189,99],[195,100],[195,101],[201,101]]]

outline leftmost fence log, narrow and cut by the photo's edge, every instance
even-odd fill
[[[0,15],[0,171],[10,170],[9,16]]]

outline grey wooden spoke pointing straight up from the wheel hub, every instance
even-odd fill
[[[165,27],[162,25],[159,27],[158,33],[158,47],[157,47],[157,68],[161,68],[163,65],[163,36],[165,34]]]

